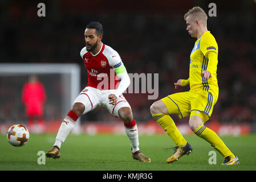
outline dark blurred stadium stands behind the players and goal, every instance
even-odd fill
[[[38,3],[46,17],[38,17]],[[208,17],[208,30],[219,46],[220,94],[210,122],[246,123],[256,131],[256,1],[1,1],[1,63],[77,63],[81,90],[87,71],[80,57],[84,30],[92,20],[103,24],[103,43],[115,49],[128,73],[159,73],[159,100],[174,92],[173,82],[189,76],[189,55],[196,39],[186,32],[184,14],[193,6],[208,11],[217,5],[217,17]],[[1,97],[15,97],[1,81]],[[124,94],[137,122],[152,120],[148,94]],[[2,102],[0,122],[11,117],[8,100]],[[8,109],[6,109],[6,107]],[[20,109],[20,112],[24,110]],[[47,118],[48,116],[45,115]],[[64,115],[60,116],[64,118]],[[188,123],[188,117],[177,123]],[[97,109],[82,122],[108,122],[111,115]]]

